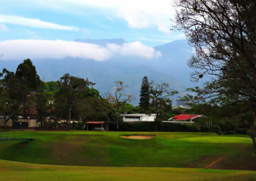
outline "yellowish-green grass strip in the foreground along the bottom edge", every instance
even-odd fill
[[[53,166],[0,160],[0,180],[256,180],[255,171]]]

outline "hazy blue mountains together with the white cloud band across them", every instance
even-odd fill
[[[157,83],[169,83],[173,90],[180,92],[177,96],[187,94],[184,90],[188,87],[202,84],[190,81],[189,73],[193,69],[188,67],[187,60],[193,47],[186,40],[157,47],[139,41],[127,43],[123,39],[13,40],[0,41],[0,51],[4,53],[0,71],[3,68],[15,71],[20,62],[29,58],[42,80],[59,80],[64,73],[70,73],[95,82],[102,96],[112,92],[115,81],[120,80],[129,85],[124,93],[136,98],[132,101],[134,105],[140,98],[143,76]],[[177,96],[172,97],[173,104]]]

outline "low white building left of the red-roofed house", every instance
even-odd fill
[[[156,114],[152,113],[147,115],[145,113],[132,113],[122,115],[124,122],[136,122],[136,121],[154,121]]]

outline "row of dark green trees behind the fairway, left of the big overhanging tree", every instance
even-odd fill
[[[15,72],[3,69],[0,74],[0,115],[6,123],[33,117],[41,127],[55,128],[58,120],[65,120],[63,128],[69,129],[71,120],[86,122],[104,120],[122,121],[122,113],[156,113],[156,121],[170,118],[172,101],[176,94],[168,83],[148,82],[143,78],[140,103],[131,105],[134,99],[125,94],[127,85],[115,82],[115,91],[100,95],[95,83],[88,78],[79,78],[65,73],[60,80],[43,82],[30,59],[19,64]],[[108,127],[108,125],[107,125]]]

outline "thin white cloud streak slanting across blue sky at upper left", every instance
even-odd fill
[[[43,29],[61,29],[78,31],[77,27],[60,25],[51,22],[44,22],[38,18],[24,18],[10,15],[0,15],[0,22],[6,24],[23,25],[28,27],[36,27]]]

